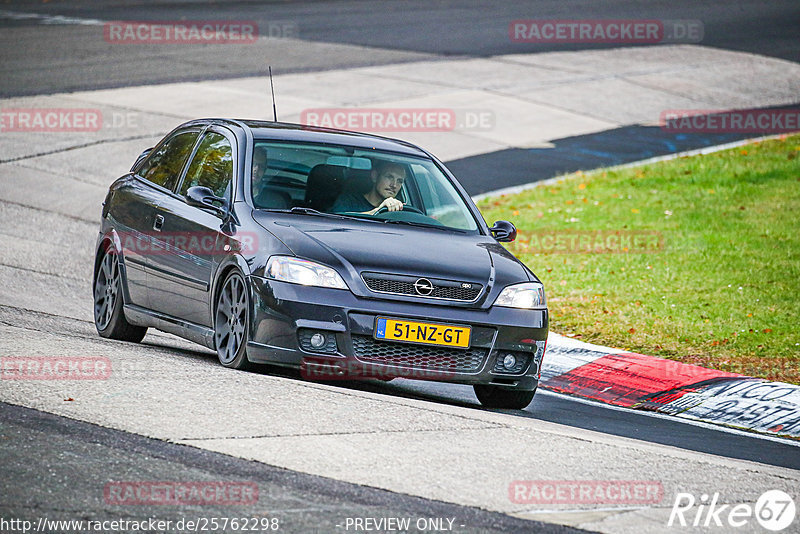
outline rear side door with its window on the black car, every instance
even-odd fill
[[[156,209],[178,183],[199,133],[180,130],[165,138],[114,192],[110,214],[122,244],[129,304],[150,308],[147,270],[156,250],[152,239],[157,232]]]

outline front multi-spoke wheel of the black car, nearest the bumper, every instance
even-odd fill
[[[250,301],[247,284],[239,271],[231,271],[217,294],[214,306],[214,347],[219,363],[229,369],[247,370]]]

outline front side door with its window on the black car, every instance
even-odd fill
[[[176,194],[165,197],[157,208],[165,253],[152,257],[151,306],[201,326],[211,326],[211,276],[224,253],[218,243],[226,223],[214,210],[190,206],[185,196],[199,185],[230,202],[234,147],[233,136],[221,128],[203,133]]]

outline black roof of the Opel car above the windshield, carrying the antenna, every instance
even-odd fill
[[[366,134],[361,132],[351,132],[348,130],[336,130],[333,128],[322,128],[318,126],[308,126],[305,124],[294,124],[290,122],[273,122],[253,119],[198,119],[190,121],[184,125],[194,124],[223,124],[228,127],[238,126],[239,128],[249,128],[253,137],[256,139],[271,139],[277,141],[296,141],[306,143],[326,143],[332,145],[353,146],[362,149],[383,150],[388,152],[399,152],[412,156],[429,157],[425,150],[416,145],[381,137],[378,135]]]

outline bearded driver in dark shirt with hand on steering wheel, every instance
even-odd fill
[[[381,208],[401,211],[403,203],[395,197],[406,181],[406,169],[399,163],[377,162],[370,173],[372,188],[366,193],[343,193],[334,202],[331,211],[375,215]]]

